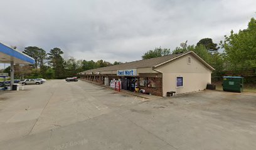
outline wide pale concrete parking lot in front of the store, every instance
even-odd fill
[[[0,93],[1,149],[255,149],[256,94],[152,101],[85,81]]]

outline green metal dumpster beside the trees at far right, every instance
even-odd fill
[[[222,86],[223,91],[241,93],[243,91],[243,77],[225,76]]]

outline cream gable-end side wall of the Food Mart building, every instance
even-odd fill
[[[188,63],[188,56],[191,63]],[[191,54],[156,69],[163,73],[163,96],[166,96],[168,91],[176,91],[176,94],[201,91],[211,83],[211,70]],[[183,86],[177,86],[177,77],[183,78]]]

